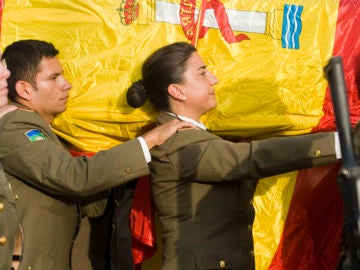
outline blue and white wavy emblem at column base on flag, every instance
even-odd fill
[[[299,49],[302,30],[301,13],[304,6],[284,5],[281,43],[283,48]]]

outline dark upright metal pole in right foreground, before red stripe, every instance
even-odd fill
[[[338,175],[338,185],[344,202],[344,242],[346,256],[345,260],[340,262],[339,269],[359,270],[360,167],[353,145],[342,58],[331,58],[329,63],[324,67],[324,73],[330,86],[343,159],[343,168]]]

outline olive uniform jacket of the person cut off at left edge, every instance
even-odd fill
[[[0,269],[10,270],[18,227],[14,194],[0,165]]]

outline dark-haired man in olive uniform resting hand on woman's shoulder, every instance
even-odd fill
[[[17,109],[0,119],[0,162],[18,196],[21,270],[71,269],[83,198],[149,174],[149,149],[189,125],[171,121],[91,158],[71,156],[50,125],[66,109],[71,88],[58,53],[51,43],[19,40],[2,55]]]

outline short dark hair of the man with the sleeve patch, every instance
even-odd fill
[[[15,84],[18,81],[27,81],[36,86],[36,74],[40,70],[41,60],[44,57],[56,57],[58,54],[59,51],[53,44],[41,40],[19,40],[8,45],[1,59],[5,59],[6,67],[11,73],[7,79],[9,99],[15,101]]]

